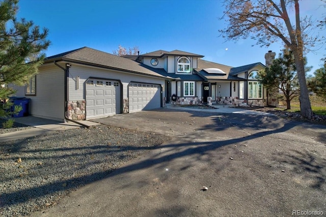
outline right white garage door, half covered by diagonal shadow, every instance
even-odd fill
[[[161,107],[161,86],[158,84],[130,83],[129,113]]]

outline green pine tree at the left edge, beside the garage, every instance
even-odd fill
[[[0,99],[5,102],[15,94],[8,84],[24,85],[38,73],[50,42],[48,29],[33,21],[17,20],[18,0],[0,2]],[[8,116],[8,104],[0,106],[0,117]]]

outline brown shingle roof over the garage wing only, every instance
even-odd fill
[[[123,58],[117,55],[83,47],[65,53],[46,57],[44,63],[54,60],[75,61],[76,63],[86,63],[94,66],[101,66],[115,70],[122,70],[133,73],[140,73],[150,76],[163,77],[162,75],[142,67],[137,61]]]

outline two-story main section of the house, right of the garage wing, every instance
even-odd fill
[[[167,78],[165,98],[168,103],[174,96],[178,105],[267,105],[267,90],[256,76],[265,68],[261,63],[230,67],[203,60],[203,55],[179,50],[126,57]],[[266,53],[266,63],[271,63],[274,57],[274,52]]]

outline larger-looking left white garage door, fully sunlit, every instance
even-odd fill
[[[88,79],[86,82],[86,119],[120,113],[120,83]]]

